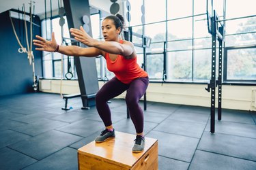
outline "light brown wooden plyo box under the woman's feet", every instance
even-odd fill
[[[158,169],[158,141],[145,137],[143,152],[132,153],[135,135],[115,131],[115,138],[102,143],[91,141],[79,148],[79,169],[126,170]]]

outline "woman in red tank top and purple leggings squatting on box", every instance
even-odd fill
[[[139,99],[145,94],[149,79],[147,73],[137,64],[137,54],[133,44],[130,41],[119,39],[123,27],[124,18],[119,14],[104,18],[102,34],[105,41],[91,38],[83,27],[70,29],[74,39],[87,45],[88,48],[59,46],[56,43],[54,33],[51,41],[36,35],[37,39],[33,40],[33,44],[38,46],[35,50],[59,52],[68,56],[104,56],[107,68],[109,71],[113,71],[115,77],[106,82],[96,95],[96,107],[100,118],[104,122],[105,130],[96,137],[95,141],[99,143],[115,137],[115,130],[111,122],[111,111],[106,102],[127,90],[126,104],[137,133],[132,152],[142,152],[145,146],[144,119],[143,111],[139,106]]]

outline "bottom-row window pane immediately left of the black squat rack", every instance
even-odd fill
[[[212,65],[212,50],[194,51],[194,81],[210,80]]]

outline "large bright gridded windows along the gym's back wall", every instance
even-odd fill
[[[226,1],[226,3],[225,3]],[[124,1],[124,18],[127,19]],[[212,4],[213,2],[213,4]],[[167,82],[208,82],[212,69],[212,35],[208,33],[205,0],[129,0],[130,22],[132,27],[132,43],[137,52],[137,63],[143,67],[142,36],[151,38],[149,48],[146,48],[147,72],[151,81],[162,80],[163,69],[167,73]],[[208,0],[208,10],[216,10],[219,18],[236,18],[225,22],[225,54],[223,61],[223,80],[255,82],[255,46],[256,46],[256,17],[255,0],[231,1]],[[212,7],[213,5],[213,7]],[[242,8],[241,8],[242,7]],[[145,11],[143,15],[143,10]],[[224,13],[225,12],[225,13]],[[96,12],[91,15],[92,36],[102,40],[101,22],[107,12]],[[239,18],[243,16],[251,16]],[[145,23],[142,24],[142,20]],[[51,39],[51,29],[58,32],[59,18],[52,21],[42,21],[42,34]],[[63,27],[64,37],[69,37],[68,27]],[[59,31],[60,32],[60,31]],[[55,34],[61,43],[61,35]],[[103,40],[104,41],[104,40]],[[164,58],[166,43],[167,58]],[[217,43],[218,44],[218,43]],[[216,52],[218,56],[218,50]],[[61,55],[44,52],[44,77],[60,77]],[[165,59],[165,60],[164,60]],[[164,61],[166,61],[164,65]],[[154,65],[154,67],[152,67]],[[164,67],[165,66],[165,67]],[[96,58],[98,78],[109,80],[114,74],[106,69],[105,59]],[[216,58],[216,75],[218,75],[218,57]],[[63,72],[67,71],[67,59],[64,56]],[[74,62],[72,61],[72,71]]]

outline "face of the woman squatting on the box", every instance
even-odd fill
[[[102,21],[102,35],[105,41],[118,41],[118,35],[120,28],[115,28],[114,21],[111,19],[105,19]]]

